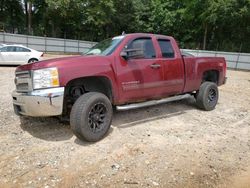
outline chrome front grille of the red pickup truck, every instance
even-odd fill
[[[15,84],[17,92],[31,91],[32,90],[31,72],[30,71],[16,72]]]

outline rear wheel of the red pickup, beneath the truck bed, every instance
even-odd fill
[[[196,95],[196,104],[200,109],[211,111],[215,109],[219,99],[218,87],[213,82],[204,82]]]

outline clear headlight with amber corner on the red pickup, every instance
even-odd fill
[[[51,88],[59,86],[59,76],[57,68],[47,68],[35,70],[33,72],[33,88]]]

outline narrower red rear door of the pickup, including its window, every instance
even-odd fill
[[[181,54],[177,54],[173,47],[177,49],[178,45],[170,39],[157,39],[157,41],[161,49],[165,94],[180,94],[184,88],[185,78]]]

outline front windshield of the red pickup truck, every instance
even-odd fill
[[[93,46],[84,55],[110,55],[123,39],[124,36],[106,39]]]

